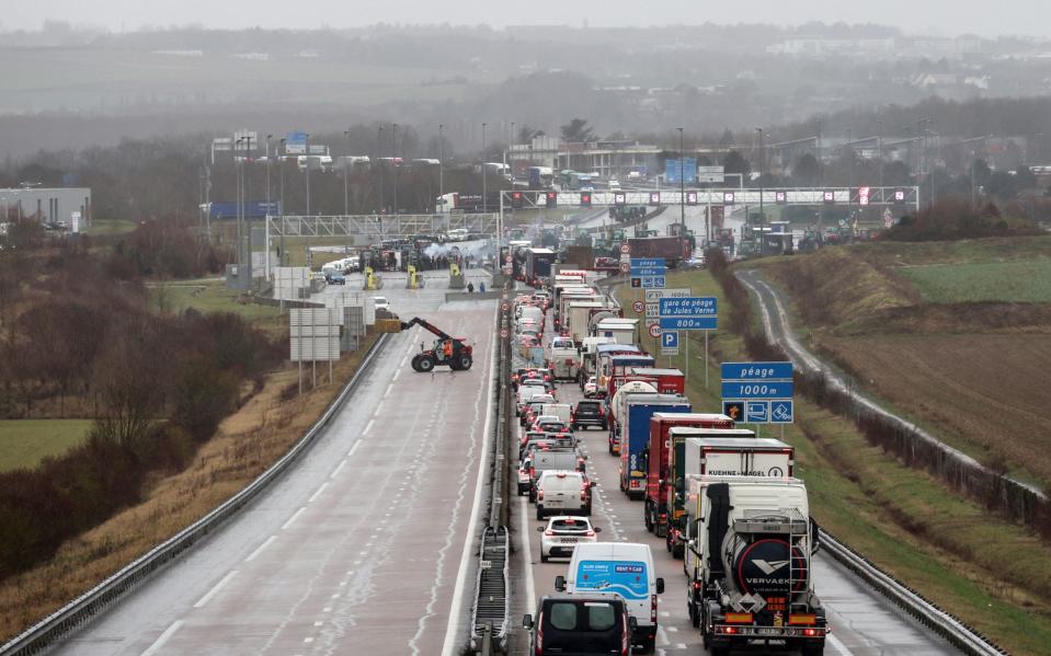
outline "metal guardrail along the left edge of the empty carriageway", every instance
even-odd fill
[[[362,365],[346,383],[340,395],[336,396],[321,418],[307,431],[302,438],[281,460],[275,462],[252,483],[231,496],[214,510],[175,533],[160,545],[155,546],[139,556],[95,587],[91,588],[77,599],[70,601],[37,624],[31,626],[11,642],[0,647],[0,656],[24,656],[37,654],[48,648],[55,641],[88,622],[93,615],[101,612],[106,606],[118,599],[137,584],[145,580],[153,572],[173,561],[194,543],[207,537],[219,526],[238,513],[249,502],[259,496],[267,485],[285,473],[285,470],[296,461],[321,434],[322,429],[332,419],[335,412],[343,405],[346,398],[357,388],[362,378],[368,371],[377,354],[387,344],[388,335],[380,335],[368,349]]]

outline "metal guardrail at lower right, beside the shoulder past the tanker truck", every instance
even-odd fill
[[[925,626],[946,638],[968,656],[1006,654],[959,618],[925,599],[919,592],[887,574],[854,552],[827,531],[821,531],[821,548],[875,590],[890,599]]]

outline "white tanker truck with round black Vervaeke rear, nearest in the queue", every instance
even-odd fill
[[[824,652],[818,526],[792,477],[687,476],[686,606],[712,656],[750,644]]]

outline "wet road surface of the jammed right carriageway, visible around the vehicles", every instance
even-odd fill
[[[551,334],[552,331],[547,331],[546,338],[549,338]],[[560,403],[575,405],[583,398],[575,382],[559,384],[557,392]],[[712,408],[695,407],[694,410],[713,412]],[[686,578],[683,574],[683,562],[672,559],[664,549],[663,538],[656,538],[646,530],[642,522],[642,502],[629,500],[620,492],[619,460],[607,451],[606,431],[589,428],[580,430],[578,436],[587,456],[589,476],[598,483],[594,491],[592,522],[603,529],[599,540],[649,543],[653,550],[658,575],[664,577],[666,589],[660,599],[656,653],[673,655],[704,652],[700,632],[690,625],[686,612]],[[514,480],[512,477],[512,481]],[[511,521],[515,550],[522,554],[518,563],[521,567],[515,571],[513,586],[515,597],[512,618],[516,619],[514,625],[518,626],[522,614],[535,611],[538,597],[555,591],[555,577],[566,574],[569,559],[552,559],[548,563],[540,563],[539,533],[536,527],[545,522],[536,521],[534,507],[524,496],[515,499],[512,508]],[[815,559],[814,577],[816,592],[825,605],[829,623],[833,629],[826,642],[825,654],[839,656],[959,654],[947,642],[933,636],[927,629],[906,618],[883,597],[866,589],[833,559],[819,553]],[[519,629],[514,638],[513,653],[525,654],[527,648],[528,637]],[[750,649],[741,653],[764,652]]]

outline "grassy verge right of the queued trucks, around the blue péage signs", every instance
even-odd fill
[[[675,274],[669,287],[717,296],[720,314],[728,309],[707,272]],[[630,290],[621,292],[633,300]],[[626,313],[631,313],[630,303]],[[713,333],[705,388],[705,362],[698,359],[702,344],[702,335],[695,334],[687,393],[695,410],[715,412],[721,407],[719,362],[750,358],[741,337]],[[653,347],[652,341],[648,346]],[[667,360],[659,361],[663,366]],[[683,369],[685,353],[671,364]],[[1047,653],[1051,549],[871,447],[852,422],[803,399],[797,399],[796,413],[797,423],[786,427],[784,439],[796,447],[798,475],[807,481],[814,516],[824,528],[1012,653]]]

